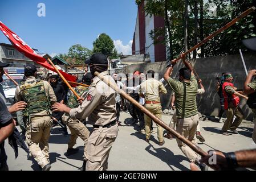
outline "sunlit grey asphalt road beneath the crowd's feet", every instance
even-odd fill
[[[162,120],[169,124],[171,115],[163,115]],[[145,142],[145,135],[137,133],[139,125],[132,125],[129,113],[121,112],[120,121],[123,126],[119,127],[119,134],[112,147],[108,160],[108,170],[133,171],[133,170],[190,170],[189,162],[177,146],[176,139],[165,138],[164,146],[159,146],[157,134],[152,134],[149,143]],[[223,123],[200,121],[201,134],[205,137],[205,143],[198,143],[203,150],[221,150],[224,152],[256,148],[251,139],[254,123],[243,121],[238,128],[239,135],[225,136],[219,134]],[[87,125],[88,129],[92,126]],[[153,125],[156,131],[156,125]],[[19,127],[18,127],[19,129]],[[83,142],[78,138],[75,147],[80,150],[72,156],[65,156],[67,151],[68,137],[63,137],[60,127],[55,126],[50,137],[50,161],[51,171],[76,171],[83,164]],[[70,132],[69,132],[70,133]],[[27,160],[27,154],[19,148],[19,156],[15,159],[14,151],[5,143],[8,155],[9,169],[13,170],[40,170],[35,160]]]

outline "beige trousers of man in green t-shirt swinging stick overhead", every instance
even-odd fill
[[[186,139],[190,140],[193,144],[197,144],[196,130],[198,123],[198,114],[188,118],[178,118],[176,131],[184,136]],[[178,143],[178,147],[180,147],[181,151],[183,152],[183,154],[185,154],[190,162],[195,162],[199,158],[199,155],[194,152],[189,146],[187,146],[185,143],[181,142],[181,140],[177,138],[176,140]]]

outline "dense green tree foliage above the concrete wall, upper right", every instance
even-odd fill
[[[256,6],[255,0],[209,0],[203,1],[204,3],[198,3],[198,26],[195,26],[195,1],[189,0],[188,11],[188,49],[195,46],[195,40],[197,43],[202,38],[212,34],[219,28],[230,22],[233,18],[237,17],[243,11],[249,9],[251,6]],[[143,0],[136,0],[137,5],[144,2]],[[167,3],[166,3],[167,2]],[[209,5],[214,3],[217,6],[217,15],[211,16],[209,14]],[[156,15],[165,17],[165,27],[156,28],[149,33],[149,36],[154,40],[155,44],[166,44],[168,48],[168,59],[177,57],[180,53],[184,52],[184,8],[185,0],[148,0],[145,5],[145,14]],[[196,3],[197,4],[197,3]],[[200,8],[202,5],[202,14],[200,14]],[[165,8],[168,9],[168,17],[165,15]],[[200,19],[202,16],[202,19]],[[170,31],[168,32],[168,24],[166,24],[166,18],[168,18]],[[215,36],[209,42],[204,44],[204,55],[200,53],[198,56],[221,56],[237,54],[238,49],[242,49],[243,52],[248,51],[242,44],[243,39],[249,39],[256,36],[256,12],[251,13],[245,18],[239,20],[233,26]],[[200,27],[202,26],[202,27]],[[200,28],[200,34],[194,34],[196,27]],[[198,31],[199,32],[199,31]],[[195,37],[196,35],[196,37]],[[164,36],[164,41],[160,42],[157,38]]]

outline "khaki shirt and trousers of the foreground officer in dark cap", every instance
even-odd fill
[[[115,84],[107,71],[100,75]],[[94,125],[87,143],[86,170],[106,170],[109,152],[118,133],[115,90],[94,77],[83,104],[71,109],[70,116],[72,119],[88,117],[87,123]]]

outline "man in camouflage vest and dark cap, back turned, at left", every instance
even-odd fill
[[[17,86],[15,99],[27,103],[24,111],[26,142],[42,171],[48,171],[51,168],[48,146],[52,125],[50,108],[56,102],[56,97],[47,81],[36,79],[35,65],[25,66],[25,76],[26,81]]]

